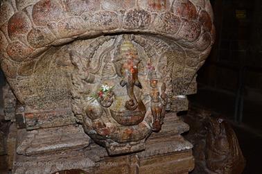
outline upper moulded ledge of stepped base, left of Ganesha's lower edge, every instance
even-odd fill
[[[22,141],[17,145],[17,153],[27,156],[82,149],[90,143],[90,138],[78,125],[20,132],[19,136]]]

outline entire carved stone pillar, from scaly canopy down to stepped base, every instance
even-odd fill
[[[14,173],[193,170],[177,112],[213,44],[208,0],[3,1],[0,14]]]

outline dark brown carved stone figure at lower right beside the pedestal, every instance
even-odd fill
[[[233,128],[221,116],[193,107],[184,121],[191,130],[196,167],[193,173],[242,173],[245,159]]]

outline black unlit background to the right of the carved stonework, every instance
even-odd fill
[[[211,0],[211,4],[216,43],[198,71],[198,94],[189,96],[189,101],[229,119],[247,160],[243,173],[259,174],[262,173],[262,1]]]

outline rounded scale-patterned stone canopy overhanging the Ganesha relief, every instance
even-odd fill
[[[105,34],[139,33],[157,35],[175,42],[175,54],[184,51],[189,71],[173,76],[173,82],[190,84],[196,71],[211,51],[215,38],[213,13],[209,0],[86,1],[86,0],[3,0],[0,8],[1,67],[14,93],[25,98],[15,85],[24,70],[35,71],[40,55],[60,46]],[[192,62],[192,63],[191,63]],[[30,70],[31,69],[31,70]],[[183,68],[184,69],[184,68]],[[189,74],[189,75],[188,75]],[[187,78],[185,78],[187,76]],[[185,92],[183,89],[179,93]]]

